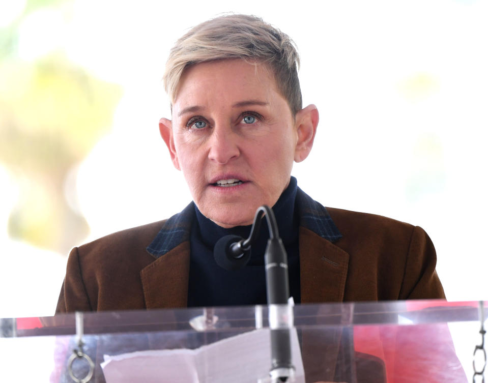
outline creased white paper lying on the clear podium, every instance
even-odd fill
[[[303,362],[295,329],[290,331],[295,381],[304,383]],[[107,383],[256,383],[271,367],[269,329],[260,329],[202,346],[147,350],[104,356]]]

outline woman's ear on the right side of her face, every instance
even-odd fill
[[[308,105],[295,116],[298,141],[295,148],[295,162],[302,162],[312,150],[313,139],[319,125],[319,110],[315,105]]]

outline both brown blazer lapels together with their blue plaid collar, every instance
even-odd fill
[[[344,295],[349,254],[333,242],[342,237],[327,209],[300,188],[299,251],[301,302],[340,302]],[[166,220],[147,251],[156,260],[140,272],[146,307],[186,307],[190,268],[191,202]],[[163,256],[164,255],[164,256]]]

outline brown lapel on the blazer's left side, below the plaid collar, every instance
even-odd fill
[[[185,241],[140,271],[147,309],[187,306],[190,243]]]

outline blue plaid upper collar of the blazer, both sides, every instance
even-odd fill
[[[313,231],[330,242],[335,242],[342,237],[327,209],[310,198],[300,188],[297,190],[295,203],[300,216],[300,226]],[[191,202],[183,211],[166,220],[146,250],[159,258],[179,244],[189,241],[194,218],[194,202]]]

